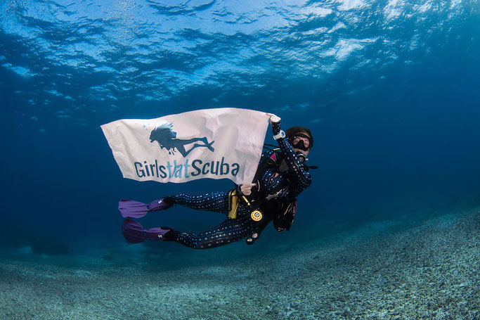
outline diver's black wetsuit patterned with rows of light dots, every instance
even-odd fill
[[[273,124],[273,134],[280,132],[280,122]],[[277,140],[281,150],[281,157],[287,163],[287,168],[281,170],[280,162],[275,165],[266,165],[266,160],[273,151],[266,151],[261,155],[259,169],[255,176],[265,201],[268,203],[285,203],[294,199],[311,184],[311,176],[300,164],[292,146],[285,138]],[[168,197],[169,201],[195,210],[220,212],[228,215],[228,191],[207,193],[202,196],[180,194]],[[190,248],[207,249],[239,241],[252,234],[257,222],[250,217],[252,208],[240,202],[236,219],[226,219],[224,222],[209,231],[202,233],[178,233],[174,241]],[[266,224],[265,224],[266,225]],[[264,227],[263,227],[264,228]]]

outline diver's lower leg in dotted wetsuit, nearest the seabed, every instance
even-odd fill
[[[249,215],[227,219],[214,229],[202,233],[181,232],[174,241],[189,248],[209,249],[239,241],[252,233],[253,224]]]

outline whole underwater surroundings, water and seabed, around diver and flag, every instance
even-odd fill
[[[1,0],[0,317],[478,319],[479,9]],[[292,229],[127,245],[118,200],[233,183],[122,179],[100,125],[224,107],[311,129]],[[144,225],[222,220],[177,206]]]

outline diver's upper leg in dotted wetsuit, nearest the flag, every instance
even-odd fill
[[[190,196],[188,194],[179,194],[164,198],[165,202],[184,207],[190,207],[195,210],[228,213],[228,191],[219,191],[207,193],[201,196]]]

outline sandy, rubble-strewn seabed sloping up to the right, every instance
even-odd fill
[[[257,255],[3,255],[0,319],[480,319],[479,231],[474,207]]]

